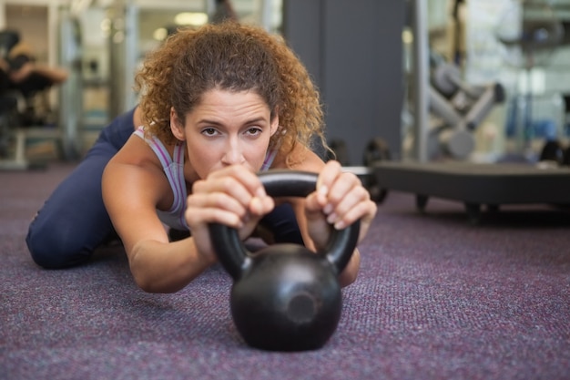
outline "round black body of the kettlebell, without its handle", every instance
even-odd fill
[[[300,351],[322,346],[341,317],[341,287],[330,262],[280,244],[252,258],[231,291],[231,313],[254,347]]]

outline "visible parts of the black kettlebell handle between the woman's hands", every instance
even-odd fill
[[[270,169],[259,173],[265,191],[271,197],[306,197],[316,189],[318,175],[308,171]],[[336,274],[342,272],[358,242],[360,221],[344,230],[332,230],[326,247],[316,254],[331,262]],[[235,280],[249,266],[251,256],[238,231],[220,223],[209,224],[209,234],[219,262]]]

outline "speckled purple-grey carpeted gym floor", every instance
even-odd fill
[[[568,379],[570,213],[463,206],[391,192],[361,245],[357,282],[321,350],[239,338],[219,266],[175,294],[143,293],[120,246],[46,271],[28,222],[70,164],[0,172],[0,379]]]

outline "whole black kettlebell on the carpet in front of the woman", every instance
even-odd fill
[[[306,197],[317,183],[317,174],[299,170],[272,169],[259,176],[271,197]],[[238,231],[209,224],[219,262],[233,279],[230,310],[246,344],[268,351],[306,351],[329,340],[341,318],[338,276],[356,247],[360,221],[331,231],[319,252],[294,243],[249,252]]]

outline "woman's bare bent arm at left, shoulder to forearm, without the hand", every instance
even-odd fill
[[[168,241],[167,231],[159,221],[156,209],[168,208],[171,190],[152,156],[146,155],[148,161],[128,159],[145,156],[140,154],[141,149],[150,150],[143,140],[132,137],[107,164],[103,174],[103,198],[125,245],[137,285],[146,292],[173,293],[213,262],[210,257],[198,254],[191,237]]]

